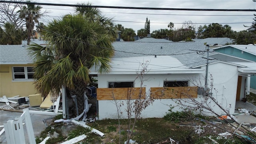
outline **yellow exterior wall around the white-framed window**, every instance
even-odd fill
[[[0,65],[0,97],[28,96],[36,94],[33,81],[12,82],[12,66],[33,66],[32,64]]]

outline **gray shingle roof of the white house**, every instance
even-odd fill
[[[206,46],[198,42],[114,42],[114,57],[170,55],[188,67],[206,64]],[[162,48],[161,48],[162,47]],[[210,50],[210,53],[213,53]],[[216,59],[209,62],[218,61]]]

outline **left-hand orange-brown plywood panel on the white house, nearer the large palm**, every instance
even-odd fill
[[[142,88],[142,94],[146,93],[146,88]],[[140,93],[140,88],[97,88],[97,100],[127,100],[128,96],[131,99],[137,99]]]

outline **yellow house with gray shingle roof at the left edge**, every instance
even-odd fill
[[[35,94],[33,61],[24,45],[0,45],[0,96]]]

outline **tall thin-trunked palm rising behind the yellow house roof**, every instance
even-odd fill
[[[28,1],[30,2],[30,1]],[[27,44],[30,44],[30,39],[33,34],[34,24],[38,23],[38,19],[42,16],[42,12],[40,11],[42,7],[35,4],[27,4],[27,6],[23,6],[21,10],[19,10],[19,17],[25,19],[26,28],[28,34]]]

